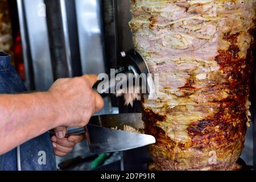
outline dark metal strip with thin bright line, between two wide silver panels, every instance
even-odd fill
[[[54,80],[81,76],[75,0],[44,0]]]

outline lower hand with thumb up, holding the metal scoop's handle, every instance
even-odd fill
[[[73,147],[84,139],[84,135],[71,135],[65,138],[66,128],[57,127],[52,136],[52,145],[57,156],[65,156],[73,150]]]

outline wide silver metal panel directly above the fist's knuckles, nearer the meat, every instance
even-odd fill
[[[83,74],[105,73],[100,0],[76,0],[77,28]]]

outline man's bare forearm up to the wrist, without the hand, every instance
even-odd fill
[[[0,94],[0,155],[59,126],[57,106],[47,92]]]

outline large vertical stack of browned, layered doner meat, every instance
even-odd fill
[[[249,125],[255,0],[131,0],[134,46],[159,73],[142,99],[150,169],[235,170]]]

